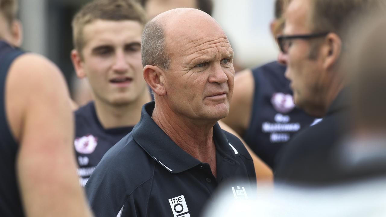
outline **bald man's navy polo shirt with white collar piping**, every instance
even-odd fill
[[[85,189],[95,216],[199,216],[219,183],[232,186],[235,198],[248,197],[256,185],[251,156],[242,142],[213,127],[217,179],[210,166],[175,144],[152,120],[154,102],[142,107],[141,120],[98,164]]]

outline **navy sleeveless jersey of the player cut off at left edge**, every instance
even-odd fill
[[[12,62],[23,51],[0,40],[0,216],[24,216],[16,180],[19,145],[12,136],[5,114],[5,81]]]

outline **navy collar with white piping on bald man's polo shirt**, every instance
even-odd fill
[[[154,122],[151,118],[154,105],[152,101],[142,106],[141,119],[132,131],[134,141],[171,173],[180,173],[201,164],[201,161],[174,143]],[[217,123],[213,127],[213,139],[216,141],[216,151],[235,161],[237,151],[228,143],[227,137]]]

